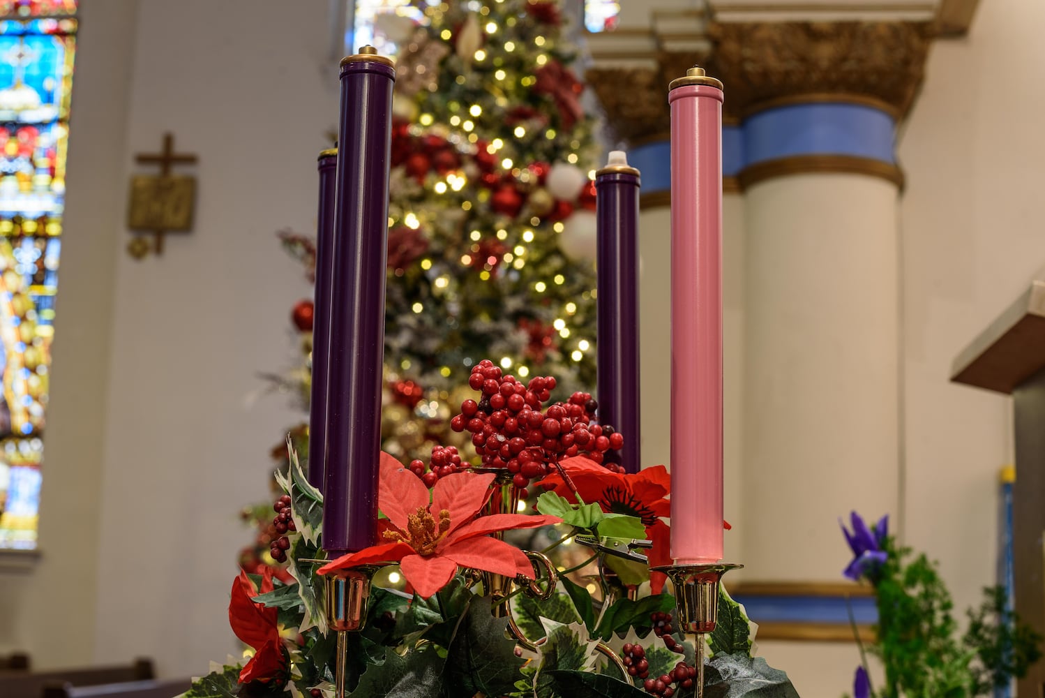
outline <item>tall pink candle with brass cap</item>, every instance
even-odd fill
[[[722,84],[702,68],[671,104],[671,556],[722,559]]]

